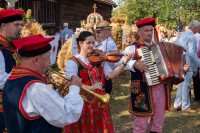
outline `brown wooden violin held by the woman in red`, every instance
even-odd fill
[[[91,54],[88,55],[88,60],[92,64],[100,64],[103,61],[108,61],[112,63],[117,63],[124,56],[124,54],[119,53],[118,50],[112,50],[109,52],[103,52],[102,50],[95,49]],[[134,55],[133,59],[141,59],[142,56]]]

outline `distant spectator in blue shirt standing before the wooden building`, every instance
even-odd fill
[[[60,42],[61,42],[61,46],[65,43],[66,40],[68,40],[72,34],[73,34],[73,31],[70,30],[68,28],[68,23],[63,23],[63,27],[64,29],[61,31],[60,33]]]

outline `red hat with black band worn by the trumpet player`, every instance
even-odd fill
[[[12,40],[15,48],[22,57],[34,57],[41,55],[51,50],[49,42],[54,40],[54,37],[45,38],[42,35],[33,35],[17,40]]]

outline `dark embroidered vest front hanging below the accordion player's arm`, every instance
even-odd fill
[[[140,44],[134,44],[140,48]],[[151,87],[147,86],[144,73],[134,68],[135,72],[131,71],[131,102],[129,112],[136,116],[153,115]]]

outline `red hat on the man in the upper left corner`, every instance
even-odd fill
[[[24,12],[18,9],[3,9],[0,11],[0,23],[9,23],[17,20],[22,20]]]

